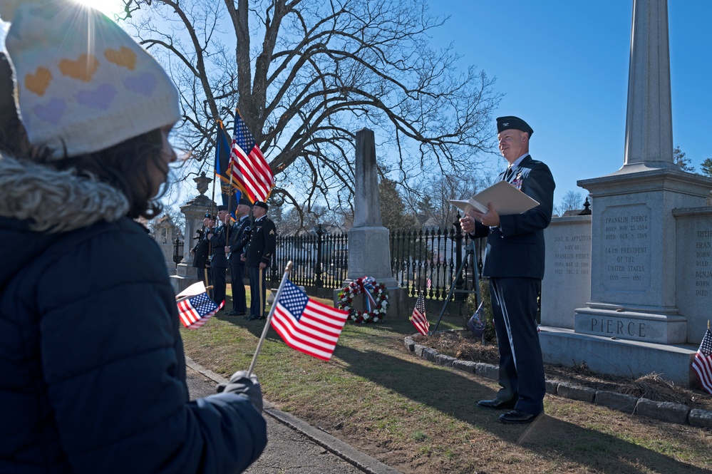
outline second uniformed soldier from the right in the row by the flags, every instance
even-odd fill
[[[225,252],[229,253],[230,282],[232,283],[232,311],[227,316],[242,316],[247,313],[244,292],[244,249],[249,242],[249,211],[252,202],[244,197],[237,205],[237,222],[232,225]]]

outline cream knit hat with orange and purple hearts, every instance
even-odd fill
[[[117,24],[73,0],[2,0],[30,143],[53,158],[103,150],[180,119],[163,68]]]

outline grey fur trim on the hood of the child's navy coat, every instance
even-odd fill
[[[103,182],[0,156],[0,217],[26,221],[29,230],[69,232],[126,212],[126,197]]]

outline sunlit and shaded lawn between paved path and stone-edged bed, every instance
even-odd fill
[[[460,316],[445,316],[440,328],[460,324]],[[192,359],[229,376],[247,369],[263,327],[264,321],[221,313],[182,336]],[[254,372],[277,408],[403,473],[712,469],[710,431],[591,403],[547,395],[547,416],[530,426],[503,425],[500,412],[475,406],[495,394],[497,383],[411,354],[403,338],[415,332],[406,315],[389,314],[381,324],[346,324],[326,362],[290,349],[270,329]]]

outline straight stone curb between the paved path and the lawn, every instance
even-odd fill
[[[227,378],[221,376],[219,373],[211,371],[210,369],[205,369],[205,367],[190,359],[188,356],[185,356],[185,365],[196,372],[202,373],[202,375],[210,378],[215,383],[227,383]],[[262,413],[267,413],[267,415],[272,416],[272,418],[279,421],[279,423],[288,426],[294,431],[298,431],[314,443],[320,445],[326,450],[329,450],[331,453],[339,456],[339,458],[345,460],[347,463],[354,465],[354,467],[362,470],[364,473],[401,474],[400,471],[381,463],[381,461],[376,458],[371,458],[371,456],[361,453],[361,451],[352,448],[351,445],[344,443],[344,441],[339,438],[331,436],[329,433],[326,433],[326,431],[314,428],[314,426],[311,426],[309,423],[296,418],[296,416],[277,410],[277,408],[274,408],[274,405],[269,403],[269,401],[263,399],[263,403],[264,409],[262,410]]]

